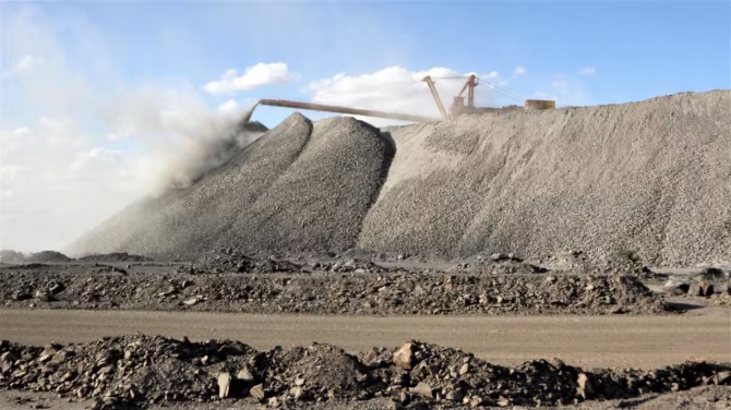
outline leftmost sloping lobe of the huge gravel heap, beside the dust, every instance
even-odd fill
[[[311,131],[308,119],[290,116],[196,183],[132,204],[72,244],[70,252],[194,256],[223,238],[239,213],[251,208],[299,157]]]

